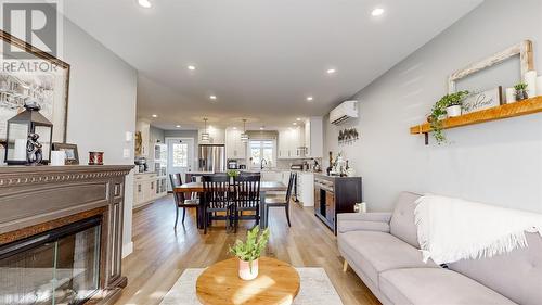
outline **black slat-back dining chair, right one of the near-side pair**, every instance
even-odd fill
[[[256,220],[260,223],[260,180],[257,175],[238,175],[233,178],[233,221],[235,231],[237,231],[238,220]],[[250,214],[244,214],[250,212]]]

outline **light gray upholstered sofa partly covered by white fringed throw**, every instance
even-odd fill
[[[542,304],[539,234],[528,233],[529,246],[506,255],[448,268],[424,264],[414,224],[418,198],[401,193],[392,213],[338,215],[338,249],[383,304]]]

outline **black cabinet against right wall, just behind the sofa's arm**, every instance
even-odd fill
[[[337,214],[352,213],[362,202],[361,177],[314,175],[314,215],[335,233]]]

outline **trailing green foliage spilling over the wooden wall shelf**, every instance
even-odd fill
[[[433,137],[437,144],[446,142],[444,131],[442,129],[442,118],[446,116],[446,109],[449,106],[463,105],[463,101],[470,92],[467,90],[449,93],[440,98],[435,105],[433,105],[431,114],[428,117],[433,130]]]

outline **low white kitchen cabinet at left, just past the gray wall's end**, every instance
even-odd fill
[[[136,174],[133,179],[133,207],[141,207],[167,195],[167,179],[155,173]]]

